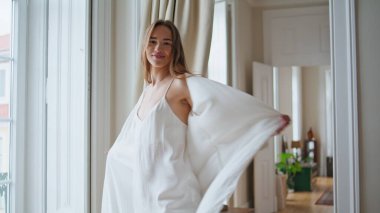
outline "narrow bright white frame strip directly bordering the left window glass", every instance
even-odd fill
[[[13,54],[15,63],[13,70],[15,70],[13,79],[13,100],[12,103],[16,108],[11,110],[12,117],[14,118],[12,138],[14,143],[10,146],[10,169],[14,174],[13,183],[10,185],[10,210],[11,212],[22,212],[25,192],[24,187],[24,156],[25,156],[25,68],[26,68],[26,2],[17,1],[14,3],[13,14]],[[17,71],[16,71],[17,70]],[[20,87],[18,87],[20,85]],[[21,204],[21,205],[20,205]]]

